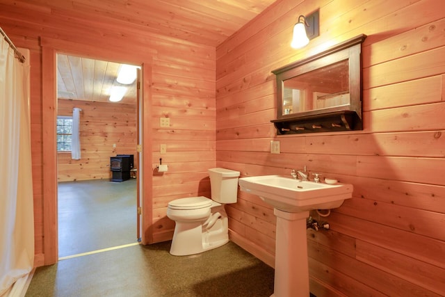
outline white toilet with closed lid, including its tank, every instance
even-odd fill
[[[229,241],[224,204],[236,202],[239,172],[211,168],[209,176],[211,200],[200,196],[168,203],[167,216],[176,222],[170,248],[172,255],[194,255]]]

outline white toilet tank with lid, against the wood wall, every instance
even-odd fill
[[[211,199],[219,203],[235,203],[238,195],[239,171],[225,168],[209,169]]]

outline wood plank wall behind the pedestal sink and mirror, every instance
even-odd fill
[[[321,35],[291,49],[298,15],[316,9]],[[217,48],[216,165],[242,176],[307,166],[355,187],[329,231],[307,232],[316,296],[445,295],[444,31],[441,0],[280,0]],[[360,33],[364,130],[275,136],[270,71]],[[226,208],[231,239],[273,265],[273,210],[243,192]]]

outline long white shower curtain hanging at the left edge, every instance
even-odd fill
[[[29,51],[0,37],[0,296],[18,296],[34,262]]]

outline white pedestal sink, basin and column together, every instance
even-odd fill
[[[274,207],[275,239],[274,297],[308,297],[306,218],[311,209],[339,207],[351,198],[351,184],[322,184],[281,175],[242,177],[241,191],[249,192]]]

